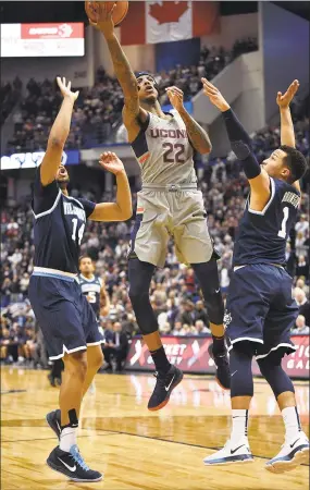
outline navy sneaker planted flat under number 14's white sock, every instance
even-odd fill
[[[88,468],[77,445],[73,445],[69,453],[57,446],[47,458],[47,464],[51,469],[62,473],[72,481],[92,482],[100,481],[103,477],[101,473]]]

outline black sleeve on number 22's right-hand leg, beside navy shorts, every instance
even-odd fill
[[[218,264],[215,258],[209,262],[191,264],[202,290],[204,304],[211,323],[222,324],[224,318],[224,302],[221,294]]]

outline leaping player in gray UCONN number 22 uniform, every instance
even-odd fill
[[[168,89],[174,113],[164,113],[153,76],[146,72],[133,73],[114,34],[112,12],[101,2],[97,22],[91,24],[106,37],[124,93],[124,124],[141,168],[142,189],[138,193],[129,253],[129,297],[157,370],[148,408],[158,411],[166,405],[172,390],[183,378],[182,371],[166,358],[149,301],[151,277],[156,267],[164,266],[170,236],[179,260],[191,265],[200,283],[213,335],[216,378],[223,388],[230,388],[218,256],[208,232],[193,161],[194,149],[209,154],[211,143],[185,110],[182,90]]]

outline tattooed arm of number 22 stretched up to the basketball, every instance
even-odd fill
[[[113,61],[114,72],[124,94],[124,118],[125,125],[139,119],[144,122],[147,119],[147,111],[139,107],[138,84],[132,66],[120,45],[114,32],[113,10],[107,10],[103,2],[99,2],[97,22],[90,24],[98,28],[104,36]]]

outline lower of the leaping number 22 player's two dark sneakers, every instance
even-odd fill
[[[183,380],[183,372],[175,366],[171,366],[166,375],[154,373],[157,383],[148,403],[149,411],[160,411],[170,399],[172,390]]]

